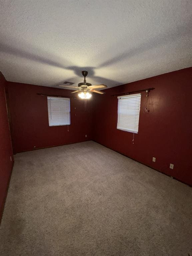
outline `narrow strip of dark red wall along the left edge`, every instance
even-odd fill
[[[0,72],[0,220],[13,167],[13,153],[7,116],[5,86],[6,80]],[[10,156],[12,157],[12,162]]]

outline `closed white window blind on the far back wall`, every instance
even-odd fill
[[[70,125],[70,99],[47,97],[49,126]]]

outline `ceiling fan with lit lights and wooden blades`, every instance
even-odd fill
[[[87,76],[88,72],[87,71],[82,71],[81,73],[84,76],[84,82],[79,83],[78,87],[70,86],[70,85],[60,85],[60,84],[58,86],[76,88],[77,91],[74,91],[72,93],[76,93],[76,92],[81,91],[81,93],[78,94],[78,96],[81,99],[90,99],[91,98],[91,92],[95,92],[95,93],[98,93],[98,94],[105,94],[105,92],[97,91],[95,89],[106,88],[107,85],[105,85],[105,84],[92,85],[90,83],[87,83],[86,82],[86,76]]]

